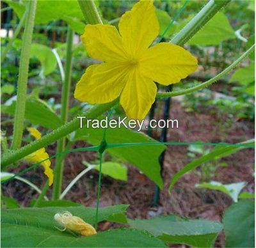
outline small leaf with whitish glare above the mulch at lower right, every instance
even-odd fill
[[[238,183],[230,183],[230,184],[222,184],[220,182],[209,182],[209,183],[200,183],[196,184],[196,187],[199,189],[214,189],[219,190],[233,199],[235,203],[237,203],[237,198],[241,190],[246,185],[246,182],[238,182]]]

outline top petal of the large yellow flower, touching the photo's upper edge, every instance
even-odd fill
[[[122,15],[118,27],[129,54],[138,55],[147,49],[159,33],[153,1],[136,3],[131,11]]]

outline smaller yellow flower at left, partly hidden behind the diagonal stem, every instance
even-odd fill
[[[31,136],[35,137],[36,139],[40,139],[41,134],[36,128],[28,128]],[[40,148],[39,150],[29,154],[26,157],[26,160],[29,160],[30,162],[36,163],[40,162],[44,159],[48,159],[49,155],[45,151],[45,148]],[[53,171],[51,169],[51,160],[45,160],[44,162],[41,163],[42,166],[44,166],[44,174],[49,178],[49,186],[52,185],[53,183]]]

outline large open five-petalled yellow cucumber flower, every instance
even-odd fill
[[[197,68],[197,60],[179,45],[149,47],[159,34],[153,1],[140,1],[118,24],[87,24],[81,39],[88,55],[104,61],[91,65],[77,83],[74,97],[104,104],[120,97],[129,119],[145,118],[157,93],[155,82],[180,82]]]

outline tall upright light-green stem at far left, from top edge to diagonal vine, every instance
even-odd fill
[[[31,40],[33,35],[35,13],[36,13],[36,0],[29,1],[24,35],[22,37],[22,50],[20,54],[18,92],[17,92],[16,107],[15,107],[13,140],[11,145],[12,150],[19,149],[21,140],[22,140],[24,114],[25,114],[25,107],[26,107],[26,93],[27,93],[27,85],[28,85],[30,47],[31,47]]]

